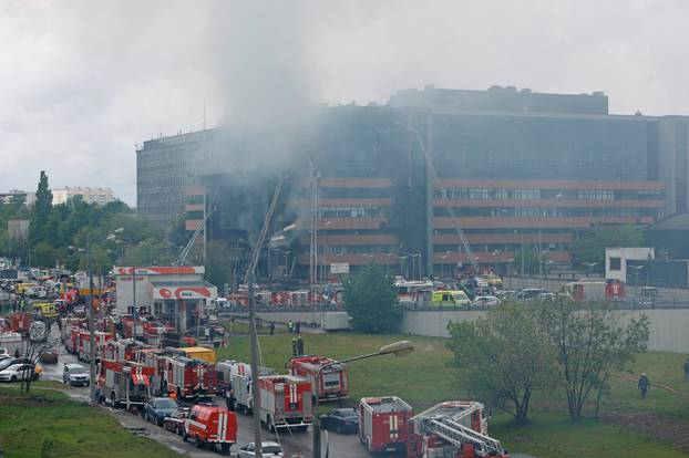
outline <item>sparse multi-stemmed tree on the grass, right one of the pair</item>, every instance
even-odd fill
[[[569,301],[548,302],[537,309],[542,329],[557,352],[569,416],[582,417],[593,391],[597,392],[597,416],[609,392],[610,372],[623,371],[646,350],[648,318],[624,321],[609,308],[582,310]]]

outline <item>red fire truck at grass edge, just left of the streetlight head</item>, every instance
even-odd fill
[[[318,388],[316,393],[319,399],[343,399],[349,395],[349,376],[344,364],[325,356],[298,356],[289,360],[287,368],[292,375],[309,381],[313,391]]]

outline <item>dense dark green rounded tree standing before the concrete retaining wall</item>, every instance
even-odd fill
[[[402,316],[392,279],[378,264],[364,267],[344,283],[344,306],[354,331],[394,331]]]

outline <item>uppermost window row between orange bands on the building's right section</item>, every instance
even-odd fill
[[[658,190],[613,189],[527,189],[527,188],[441,188],[433,192],[435,199],[450,200],[648,200],[662,199]]]

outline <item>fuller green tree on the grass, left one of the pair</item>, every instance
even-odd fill
[[[450,366],[459,384],[524,421],[534,389],[555,383],[555,353],[533,309],[503,303],[485,319],[450,323]]]

